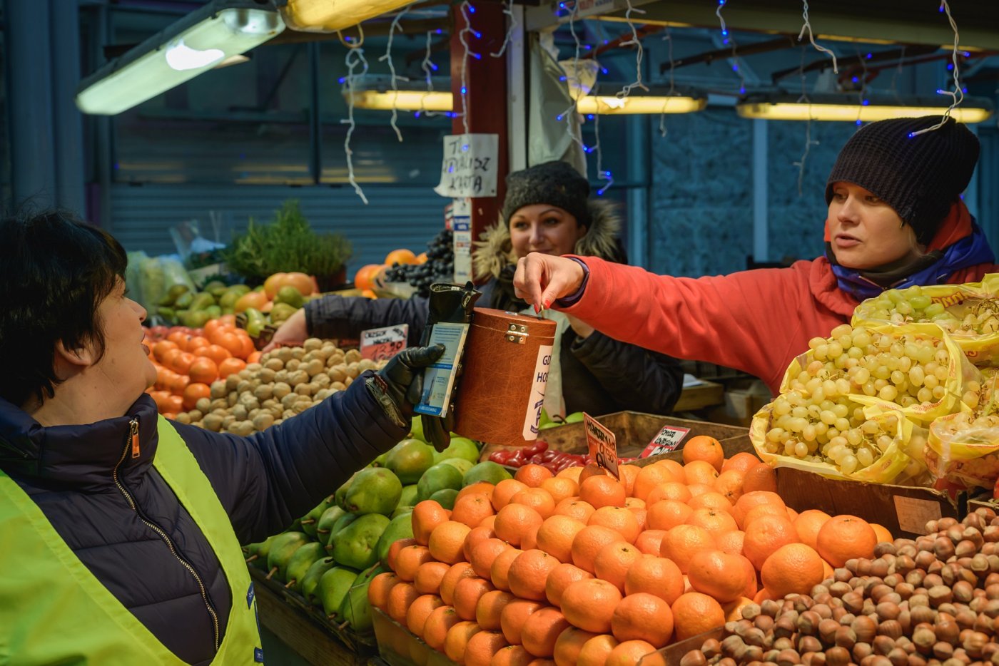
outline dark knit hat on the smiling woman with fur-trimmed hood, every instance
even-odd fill
[[[589,183],[565,162],[545,162],[506,177],[506,199],[502,203],[502,219],[510,217],[524,206],[548,204],[571,213],[576,222],[589,226]]]

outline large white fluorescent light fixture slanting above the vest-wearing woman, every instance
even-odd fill
[[[76,106],[113,116],[268,41],[285,23],[255,0],[213,0],[80,82]]]

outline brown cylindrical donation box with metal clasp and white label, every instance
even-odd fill
[[[537,438],[555,323],[476,308],[462,356],[455,432],[492,444]]]

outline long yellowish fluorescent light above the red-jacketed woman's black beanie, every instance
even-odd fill
[[[947,110],[945,97],[870,96],[861,103],[855,94],[800,95],[754,93],[735,105],[743,118],[765,120],[824,120],[869,123],[888,118],[940,116]],[[965,97],[961,106],[950,112],[959,123],[981,123],[992,115],[987,99]]]

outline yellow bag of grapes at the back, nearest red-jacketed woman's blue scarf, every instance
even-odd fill
[[[999,274],[980,283],[887,290],[857,306],[852,324],[880,332],[903,324],[935,324],[950,333],[974,364],[999,364]]]

